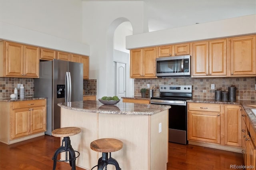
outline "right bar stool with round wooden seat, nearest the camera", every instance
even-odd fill
[[[116,170],[121,170],[118,162],[111,157],[111,152],[115,152],[122,149],[123,142],[121,140],[113,138],[102,138],[92,141],[90,147],[92,150],[96,152],[102,152],[102,157],[99,158],[98,165],[96,165],[98,166],[98,170],[103,170],[104,166],[106,170],[108,164],[114,165],[116,167]],[[93,168],[95,168],[96,166],[94,166]]]

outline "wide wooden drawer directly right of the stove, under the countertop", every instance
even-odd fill
[[[220,105],[209,104],[209,103],[188,103],[188,110],[191,111],[209,111],[209,112],[220,112]]]

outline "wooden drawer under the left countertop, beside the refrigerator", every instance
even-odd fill
[[[12,109],[21,109],[26,107],[45,106],[46,100],[28,100],[13,102]]]

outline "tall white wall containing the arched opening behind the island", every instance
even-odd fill
[[[114,95],[114,30],[130,21],[133,34],[143,33],[144,17],[141,1],[83,2],[83,42],[90,44],[90,79],[97,79],[98,98]]]

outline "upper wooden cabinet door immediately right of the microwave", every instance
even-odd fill
[[[193,43],[193,76],[208,75],[209,69],[209,43]]]

